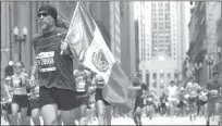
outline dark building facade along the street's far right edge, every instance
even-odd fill
[[[220,71],[218,47],[221,45],[221,2],[196,1],[189,23],[189,76],[200,85]],[[218,65],[217,65],[218,64]],[[213,70],[214,67],[214,70]]]

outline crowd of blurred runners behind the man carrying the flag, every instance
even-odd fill
[[[14,65],[15,74],[5,78],[1,88],[2,116],[11,125],[40,125],[42,113],[39,105],[39,81],[37,77],[30,83],[24,64],[17,62]],[[205,116],[206,121],[220,119],[220,84],[219,74],[213,74],[213,80],[209,80],[205,87],[200,87],[192,77],[184,87],[178,88],[174,80],[170,81],[165,93],[157,98],[153,89],[140,83],[134,77],[132,90],[136,90],[135,108],[128,114],[123,114],[102,98],[102,77],[91,73],[79,64],[73,71],[77,85],[77,109],[73,116],[79,125],[87,125],[98,119],[99,125],[110,125],[112,117],[132,117],[137,125],[141,125],[141,117],[152,119],[156,116],[169,116],[172,121],[175,116],[188,116],[195,121],[197,116]],[[87,96],[88,92],[92,92]],[[217,118],[218,117],[218,118]],[[62,124],[60,110],[57,113],[58,124]]]

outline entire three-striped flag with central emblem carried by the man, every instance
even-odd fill
[[[84,55],[79,61],[87,68],[104,78],[103,98],[120,111],[130,112],[135,105],[135,91],[127,89],[132,84],[107,47],[96,22],[81,2],[77,2],[65,40],[76,58]]]

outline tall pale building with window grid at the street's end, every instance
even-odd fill
[[[180,73],[188,43],[188,5],[172,1],[135,3],[140,12],[135,15],[139,22],[139,73],[158,96],[171,79],[182,79]]]

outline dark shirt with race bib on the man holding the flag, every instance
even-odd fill
[[[55,28],[48,34],[40,33],[33,39],[40,86],[75,90],[73,60],[60,54],[61,40],[65,36],[66,30]]]

